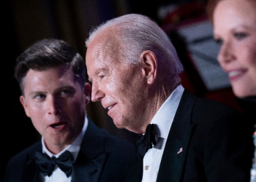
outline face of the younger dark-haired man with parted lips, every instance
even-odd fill
[[[83,128],[89,84],[82,89],[69,65],[29,70],[23,80],[20,102],[50,151],[64,149]]]

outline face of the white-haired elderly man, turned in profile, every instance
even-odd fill
[[[92,82],[91,100],[101,101],[116,127],[140,132],[149,115],[143,68],[118,58],[113,53],[115,49],[104,49],[101,41],[101,37],[95,38],[86,52],[86,66]]]

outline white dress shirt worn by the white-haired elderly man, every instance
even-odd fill
[[[173,123],[173,118],[176,114],[178,104],[181,100],[181,95],[184,92],[184,87],[179,85],[174,90],[165,103],[157,111],[157,114],[151,121],[151,124],[157,124],[157,129],[154,130],[156,135],[157,145],[152,149],[148,149],[143,158],[143,179],[142,182],[156,182],[157,174],[162,159],[162,153],[165,149],[165,143]],[[154,128],[155,129],[155,128]]]

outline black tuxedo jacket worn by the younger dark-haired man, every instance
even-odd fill
[[[6,171],[7,182],[37,181],[39,168],[33,160],[35,151],[42,151],[41,141],[10,159]],[[89,119],[74,163],[72,182],[123,182],[134,159],[135,147],[131,143],[100,130]]]

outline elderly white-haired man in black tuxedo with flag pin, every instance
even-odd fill
[[[157,23],[114,18],[91,32],[86,47],[91,100],[116,127],[142,134],[127,182],[249,181],[252,124],[181,86],[183,66]]]

